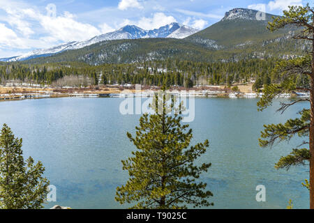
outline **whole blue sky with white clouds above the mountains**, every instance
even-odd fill
[[[0,58],[48,48],[135,24],[155,29],[171,22],[204,29],[232,8],[281,15],[303,0],[0,0]]]

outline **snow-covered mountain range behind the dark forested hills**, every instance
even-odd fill
[[[87,47],[94,43],[100,43],[106,40],[122,40],[122,39],[139,39],[139,38],[185,38],[187,36],[196,33],[198,30],[184,26],[177,22],[161,26],[159,29],[144,30],[134,25],[127,25],[110,33],[105,33],[100,36],[95,36],[90,40],[82,42],[70,42],[49,49],[36,49],[27,54],[21,56],[14,56],[8,59],[0,59],[0,61],[24,61],[27,59],[33,59],[40,56],[50,56],[52,54],[58,54],[60,52],[80,49]]]

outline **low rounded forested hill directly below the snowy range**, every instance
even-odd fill
[[[147,38],[136,40],[110,40],[82,49],[69,50],[24,63],[56,63],[80,61],[90,65],[103,63],[135,63],[162,59],[212,61],[211,51],[186,40]]]

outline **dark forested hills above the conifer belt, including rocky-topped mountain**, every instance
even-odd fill
[[[31,59],[25,63],[81,61],[90,65],[99,65],[170,58],[204,62],[270,57],[289,59],[301,55],[304,47],[308,47],[301,41],[289,38],[293,29],[281,29],[272,33],[267,30],[267,22],[271,17],[278,17],[278,15],[266,14],[266,20],[257,20],[255,15],[257,12],[257,10],[235,8],[225,14],[225,19],[182,39],[140,38],[102,41],[81,49]],[[134,26],[127,28],[133,29]],[[169,29],[170,26],[167,28]],[[164,31],[161,32],[166,35]],[[138,30],[137,34],[144,36],[142,29]],[[154,32],[151,33],[153,34]]]

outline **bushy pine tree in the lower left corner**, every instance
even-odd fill
[[[29,157],[24,162],[22,139],[4,124],[0,135],[0,208],[39,209],[47,198],[49,181],[41,162]]]

